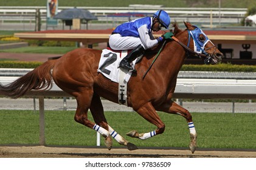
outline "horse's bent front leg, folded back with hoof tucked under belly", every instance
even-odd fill
[[[165,124],[162,122],[161,118],[156,113],[156,110],[154,109],[151,103],[144,104],[144,106],[139,107],[139,109],[137,109],[136,112],[143,118],[145,118],[145,120],[154,124],[157,127],[157,129],[155,131],[143,134],[139,134],[137,131],[133,130],[126,135],[134,138],[140,138],[141,140],[145,140],[147,138],[153,137],[154,135],[162,134],[164,132]]]

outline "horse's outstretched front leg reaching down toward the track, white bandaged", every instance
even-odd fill
[[[189,126],[190,131],[190,150],[192,153],[196,150],[196,129],[195,125],[192,120],[192,115],[190,114],[189,110],[184,109],[183,107],[176,104],[174,101],[168,101],[166,103],[163,103],[161,106],[157,106],[156,110],[161,112],[167,112],[169,114],[178,114],[184,117],[187,120],[187,124]]]

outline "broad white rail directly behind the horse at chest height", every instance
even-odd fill
[[[6,85],[12,83],[17,78],[0,77],[0,83]],[[26,96],[69,97],[70,95],[63,92],[54,83],[50,90],[32,90]],[[174,97],[256,99],[256,80],[178,78]]]

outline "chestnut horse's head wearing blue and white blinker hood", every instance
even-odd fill
[[[187,47],[190,47],[189,51],[195,53],[200,58],[202,57],[206,64],[220,63],[223,53],[215,47],[207,35],[189,22],[184,22],[184,24],[189,33],[189,42],[187,44]],[[193,41],[190,41],[190,39],[193,39]]]

